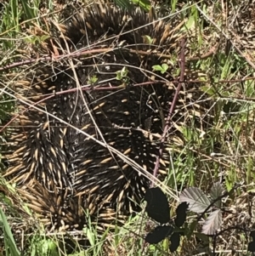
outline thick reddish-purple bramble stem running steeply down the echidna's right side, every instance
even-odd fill
[[[167,121],[166,121],[164,130],[163,130],[163,134],[161,136],[160,149],[159,149],[158,156],[156,156],[156,163],[155,163],[155,168],[153,170],[153,177],[156,177],[156,174],[158,172],[159,162],[160,162],[160,159],[161,159],[161,156],[162,156],[163,146],[164,146],[165,139],[167,137],[167,131],[168,131],[168,128],[170,126],[171,117],[173,115],[173,110],[174,110],[174,107],[175,107],[177,99],[178,99],[179,91],[180,91],[180,89],[182,87],[182,84],[184,82],[184,71],[185,71],[185,54],[184,54],[184,51],[185,51],[185,38],[183,38],[182,41],[181,41],[181,52],[180,52],[180,62],[179,62],[180,77],[179,77],[179,80],[178,80],[178,87],[176,88],[176,92],[175,92],[174,97],[173,97],[172,105],[169,108],[168,115],[167,115]],[[152,179],[150,186],[153,187],[154,183],[155,183],[155,180]]]

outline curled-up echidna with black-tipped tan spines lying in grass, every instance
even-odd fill
[[[178,53],[178,24],[177,18],[152,20],[134,7],[127,12],[94,4],[58,26],[60,39],[48,42],[65,60],[39,63],[33,79],[20,81],[17,88],[30,107],[19,104],[20,127],[9,141],[14,153],[5,177],[19,185],[37,213],[52,214],[55,227],[81,228],[80,207],[103,219],[139,209],[150,179],[123,155],[152,174],[175,94],[168,61]],[[167,71],[154,71],[162,64]],[[201,95],[194,83],[186,84],[173,122],[201,123],[201,105],[195,104]],[[169,134],[177,133],[172,126]]]

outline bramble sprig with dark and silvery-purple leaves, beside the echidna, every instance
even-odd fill
[[[228,212],[223,206],[223,199],[230,196],[237,188],[238,185],[235,185],[230,191],[225,191],[224,186],[217,182],[212,185],[209,196],[197,187],[186,188],[179,195],[181,203],[176,209],[175,219],[170,218],[167,196],[160,188],[150,188],[144,196],[144,200],[147,202],[145,211],[151,219],[155,219],[160,225],[145,236],[145,242],[156,244],[169,238],[170,252],[174,252],[179,247],[180,236],[186,236],[189,240],[192,235],[195,235],[204,242],[211,238],[213,251],[215,251],[217,238],[224,232],[228,230],[250,232],[248,227],[244,229],[238,225],[224,226],[223,224],[223,213]],[[188,211],[198,214],[190,216],[190,224],[186,223]],[[201,219],[204,219],[201,231],[197,231],[200,230]],[[182,227],[183,225],[184,227]],[[255,253],[255,230],[252,230],[250,236],[252,242],[248,243],[247,250]]]

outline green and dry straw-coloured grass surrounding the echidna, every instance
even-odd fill
[[[252,206],[249,208],[249,203],[251,203],[249,196],[252,196],[252,192],[254,192],[255,178],[255,86],[254,80],[241,81],[241,79],[253,77],[254,70],[249,61],[254,61],[255,56],[252,50],[242,43],[235,44],[241,48],[244,56],[250,54],[250,57],[241,56],[236,48],[231,46],[231,43],[230,48],[226,49],[228,38],[225,37],[225,33],[219,31],[219,28],[222,31],[232,30],[230,21],[235,17],[233,13],[229,13],[229,21],[226,22],[222,1],[207,1],[211,3],[210,8],[206,3],[201,3],[200,8],[197,8],[195,2],[191,1],[191,3],[179,5],[178,1],[172,1],[171,8],[173,13],[181,8],[184,9],[182,15],[186,22],[185,30],[187,36],[190,37],[190,44],[186,46],[190,49],[187,61],[190,69],[199,71],[200,75],[195,77],[195,80],[198,80],[197,82],[201,84],[208,97],[214,100],[212,126],[204,131],[204,134],[197,131],[192,123],[189,127],[182,128],[184,139],[181,146],[172,146],[169,175],[164,184],[175,195],[178,195],[178,191],[187,186],[196,186],[202,191],[208,191],[212,183],[218,180],[223,180],[228,191],[236,183],[241,183],[241,188],[226,200],[229,210],[229,220],[224,221],[224,228],[226,228],[236,225],[236,219],[241,216],[241,213],[247,215],[249,215],[249,211],[254,213],[254,208]],[[229,8],[232,8],[234,13],[237,12],[235,14],[238,16],[240,14],[234,7],[237,7],[240,1],[235,2]],[[1,67],[20,61],[30,51],[30,44],[40,45],[47,38],[45,34],[37,35],[35,33],[31,35],[28,32],[33,24],[37,24],[38,27],[42,28],[42,31],[47,31],[48,28],[43,23],[42,16],[44,15],[45,19],[54,16],[53,12],[56,8],[54,2],[48,1],[46,9],[48,9],[49,14],[40,13],[39,3],[40,1],[18,0],[4,3],[0,13]],[[55,17],[59,18],[58,15]],[[235,42],[238,41],[235,40]],[[217,44],[217,50],[206,59],[189,62],[189,58],[206,54]],[[0,71],[0,88],[8,88],[9,92],[14,94],[11,86],[16,77],[22,75],[22,71],[24,72],[24,69],[20,67],[12,69],[10,73]],[[25,76],[25,73],[22,76]],[[178,71],[174,75],[177,73]],[[14,100],[7,94],[1,92],[0,95],[0,123],[4,125],[11,118],[10,113],[15,111],[15,104]],[[1,134],[0,139],[4,142],[4,134]],[[1,162],[1,168],[3,168],[3,162]],[[1,188],[6,188],[6,186],[1,184]],[[3,193],[2,189],[0,190],[1,193]],[[1,198],[3,199],[3,197]],[[61,245],[63,238],[54,235],[46,236],[45,234],[43,236],[38,225],[34,225],[32,231],[26,230],[27,234],[22,235],[24,241],[15,241],[14,237],[17,235],[12,234],[17,222],[15,220],[18,218],[19,223],[26,223],[31,218],[31,214],[26,208],[26,203],[23,202],[24,213],[17,215],[17,205],[12,200],[7,202],[7,197],[4,197],[3,202],[0,202],[0,226],[2,230],[0,230],[0,236],[3,237],[1,247],[4,247],[3,253],[0,251],[0,255],[20,255],[24,244],[27,245],[24,255],[67,254],[65,242],[64,246],[63,243]],[[9,197],[12,198],[12,196]],[[177,202],[171,200],[171,196],[168,195],[168,197],[173,207],[176,207]],[[7,208],[8,210],[6,210]],[[235,211],[239,215],[235,214]],[[227,216],[224,218],[227,219]],[[189,220],[192,223],[194,216],[190,216]],[[251,221],[254,222],[254,219]],[[111,255],[137,256],[169,255],[167,254],[167,241],[156,246],[148,246],[144,243],[146,232],[154,225],[145,213],[140,213],[134,219],[129,219],[123,227],[116,227],[115,232],[107,230],[103,236],[99,236],[94,225],[90,223],[85,232],[92,246],[86,248],[82,253],[74,253],[74,255],[110,255],[110,253]],[[252,226],[246,225],[248,230]],[[183,238],[179,248],[180,255],[198,255],[199,252],[207,252],[209,249],[207,242],[210,243],[212,249],[212,239],[201,235],[199,225],[195,224],[194,232],[190,225],[189,229],[190,237],[189,239]],[[201,241],[195,239],[195,232],[202,237]],[[246,255],[248,235],[236,230],[226,233],[216,242],[218,255],[227,255],[231,247],[235,247],[243,253],[242,255]],[[19,238],[16,239],[19,240],[20,236],[17,237]]]

